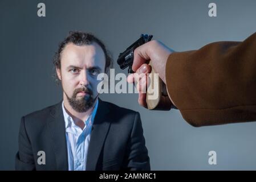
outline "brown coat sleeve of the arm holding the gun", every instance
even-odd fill
[[[243,42],[172,53],[166,85],[193,126],[256,121],[256,33]]]

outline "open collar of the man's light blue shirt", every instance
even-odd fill
[[[99,100],[97,99],[96,104],[94,106],[94,110],[92,110],[92,113],[90,115],[88,115],[88,118],[86,119],[86,121],[84,121],[84,122],[86,122],[86,125],[88,125],[89,121],[91,121],[91,125],[94,123],[94,118],[95,118],[95,115],[96,115],[98,104],[99,104]],[[65,129],[67,129],[67,127],[70,127],[72,125],[73,119],[67,113],[67,111],[64,107],[64,101],[62,101],[62,110],[63,110],[63,116],[64,116],[64,122],[65,122]]]

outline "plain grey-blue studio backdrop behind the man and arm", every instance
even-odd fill
[[[46,17],[37,16],[39,2]],[[210,2],[217,17],[208,16]],[[0,1],[0,169],[14,169],[22,115],[62,99],[52,79],[52,56],[70,30],[93,32],[117,56],[141,33],[153,34],[176,51],[220,40],[241,41],[256,30],[256,1]],[[114,64],[116,72],[121,71]],[[221,90],[220,90],[221,92]],[[178,110],[149,111],[136,94],[101,99],[137,110],[156,170],[256,169],[256,123],[195,128]],[[208,152],[217,152],[217,165]]]

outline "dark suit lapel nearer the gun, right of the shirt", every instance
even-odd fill
[[[109,129],[110,122],[107,122],[108,112],[107,103],[99,99],[99,106],[96,111],[94,125],[92,126],[91,139],[87,153],[86,170],[88,171],[94,171],[96,169],[97,160],[99,159],[100,151]]]

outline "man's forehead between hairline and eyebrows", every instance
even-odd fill
[[[95,42],[83,46],[68,43],[61,53],[61,64],[66,67],[69,65],[98,66],[104,69],[105,55],[103,49]]]

